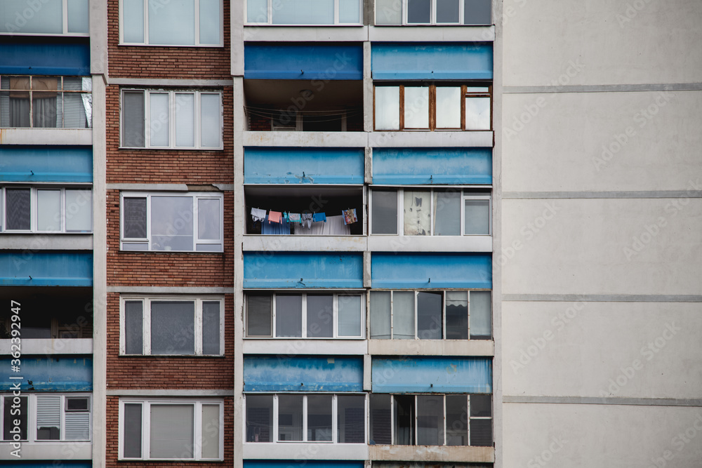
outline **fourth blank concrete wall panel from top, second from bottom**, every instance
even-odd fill
[[[502,311],[505,395],[700,394],[699,304],[503,302]]]

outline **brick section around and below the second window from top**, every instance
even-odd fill
[[[232,184],[234,121],[232,87],[223,88],[224,149],[119,149],[119,86],[107,87],[107,183]],[[270,125],[269,125],[270,129]]]

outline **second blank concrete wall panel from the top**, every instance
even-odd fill
[[[702,91],[503,95],[505,192],[689,189]]]

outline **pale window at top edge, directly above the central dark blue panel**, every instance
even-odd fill
[[[360,0],[247,0],[246,22],[257,25],[361,25]]]

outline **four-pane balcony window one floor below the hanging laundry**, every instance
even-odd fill
[[[364,302],[354,293],[247,293],[246,336],[362,338]]]

